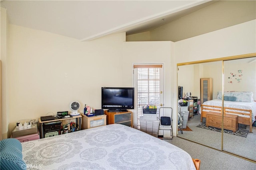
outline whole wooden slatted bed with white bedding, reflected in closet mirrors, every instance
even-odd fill
[[[209,111],[222,112],[222,97],[220,97],[220,94],[221,92],[218,92],[216,99],[206,101],[201,105],[199,112],[201,122],[203,117],[206,118]],[[238,115],[238,123],[250,126],[250,133],[252,133],[252,123],[256,118],[256,102],[252,99],[252,92],[224,92],[224,100],[224,115]]]

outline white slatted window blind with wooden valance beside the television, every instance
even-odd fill
[[[138,129],[140,129],[140,116],[143,114],[142,108],[147,104],[160,107],[161,68],[162,65],[134,65]]]

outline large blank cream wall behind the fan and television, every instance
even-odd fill
[[[131,85],[118,71],[125,33],[81,42],[12,24],[9,32],[10,131],[21,119],[71,111],[72,101],[80,112],[84,104],[100,109],[101,87]]]

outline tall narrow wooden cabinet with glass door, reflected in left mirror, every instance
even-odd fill
[[[201,78],[201,104],[212,100],[212,78]]]

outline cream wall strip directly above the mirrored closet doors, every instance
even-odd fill
[[[177,63],[255,53],[256,20],[175,42]]]

